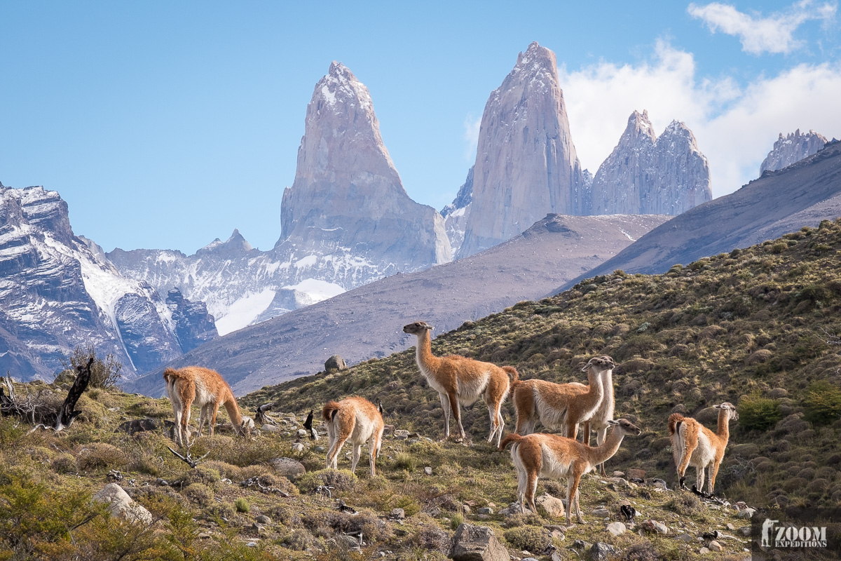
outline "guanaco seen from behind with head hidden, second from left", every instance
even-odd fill
[[[327,426],[330,446],[327,448],[327,468],[338,469],[338,456],[341,447],[350,440],[353,446],[351,471],[357,470],[362,444],[368,443],[371,475],[377,474],[374,463],[377,461],[379,447],[383,445],[383,415],[370,401],[362,397],[349,397],[341,401],[328,401],[321,416]]]

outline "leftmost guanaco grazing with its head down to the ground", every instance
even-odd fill
[[[230,422],[237,434],[245,434],[245,423],[240,414],[240,407],[236,405],[234,393],[220,374],[209,368],[188,366],[175,370],[166,368],[163,379],[167,383],[167,394],[172,401],[172,413],[175,415],[175,426],[178,444],[184,445],[184,439],[190,442],[190,407],[195,403],[201,408],[198,417],[198,435],[202,433],[204,423],[210,426],[210,436],[213,436],[216,425],[216,414],[220,405],[225,405]]]

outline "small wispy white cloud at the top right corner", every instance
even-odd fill
[[[815,6],[810,0],[795,3],[785,12],[761,17],[739,12],[729,4],[709,3],[699,6],[690,3],[687,11],[693,18],[702,19],[712,33],[721,31],[738,36],[742,50],[754,55],[764,52],[790,53],[803,45],[794,38],[794,32],[810,19],[829,22],[835,17],[837,5],[823,3]]]

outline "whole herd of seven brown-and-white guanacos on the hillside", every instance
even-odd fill
[[[581,368],[587,373],[587,384],[572,382],[554,384],[546,380],[521,380],[516,368],[499,367],[472,358],[432,354],[431,331],[434,328],[424,321],[405,325],[403,331],[417,336],[416,361],[421,374],[432,389],[438,392],[444,412],[444,437],[450,437],[450,415],[458,426],[458,441],[465,438],[461,405],[472,405],[479,396],[488,405],[490,434],[488,442],[496,437],[496,447],[505,450],[511,446],[511,460],[517,474],[517,500],[523,511],[526,505],[537,512],[534,497],[540,477],[567,479],[567,525],[573,508],[579,523],[584,520],[579,509],[579,483],[581,476],[600,469],[606,475],[605,462],[619,450],[626,435],[638,436],[642,430],[627,421],[614,420],[613,368],[611,357],[593,357]],[[231,424],[238,434],[248,431],[236,404],[230,386],[208,368],[167,368],[163,373],[167,394],[172,401],[176,421],[178,444],[190,441],[190,408],[201,409],[198,421],[200,435],[204,424],[214,434],[216,414],[221,405],[228,411]],[[505,421],[502,404],[512,395],[516,410],[516,428],[502,437]],[[672,442],[674,463],[677,466],[680,487],[685,489],[686,468],[696,468],[696,489],[702,490],[707,469],[708,492],[716,484],[718,467],[730,436],[728,424],[738,419],[736,408],[730,403],[715,405],[718,409],[717,431],[713,432],[695,419],[674,413],[669,416],[669,438]],[[311,415],[311,414],[310,414]],[[382,408],[362,397],[341,401],[328,401],[321,410],[327,428],[327,468],[337,468],[338,455],[345,442],[353,447],[351,471],[355,472],[362,449],[367,444],[371,475],[376,475],[376,460],[383,445]],[[311,423],[311,420],[308,419]],[[561,434],[535,432],[537,421],[547,430]],[[577,440],[579,426],[583,427],[583,442]],[[590,431],[595,432],[596,446],[590,446]],[[312,431],[317,438],[315,431]]]

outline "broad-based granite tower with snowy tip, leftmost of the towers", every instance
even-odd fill
[[[413,271],[448,262],[443,219],[417,204],[379,134],[368,88],[333,62],[315,85],[291,188],[283,192],[284,244],[325,245]]]

